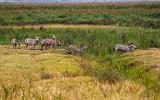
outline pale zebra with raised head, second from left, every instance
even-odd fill
[[[28,48],[28,45],[30,45],[30,46],[33,46],[33,48],[35,49],[35,45],[38,44],[38,42],[39,42],[39,37],[37,36],[35,39],[27,38],[25,40],[26,48]]]

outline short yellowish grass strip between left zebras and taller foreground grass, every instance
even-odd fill
[[[54,51],[16,50],[12,52],[11,47],[6,47],[1,50],[1,56],[0,62],[3,63],[0,66],[5,68],[13,67],[28,70],[36,67],[36,70],[41,71],[68,71],[70,73],[76,73],[80,70],[75,63],[75,60],[80,58],[56,54]],[[32,66],[30,66],[31,64]]]

